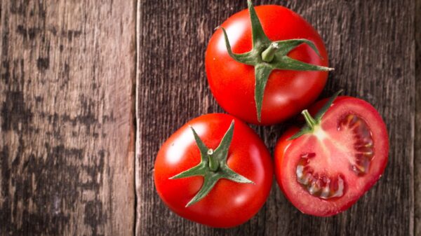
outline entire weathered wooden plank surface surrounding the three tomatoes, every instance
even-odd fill
[[[305,216],[274,183],[237,228],[180,218],[156,195],[159,146],[223,112],[206,81],[213,29],[246,1],[0,1],[0,235],[421,235],[421,0],[279,4],[319,31],[340,88],[389,130],[382,179],[338,216]],[[253,128],[273,151],[286,124]]]

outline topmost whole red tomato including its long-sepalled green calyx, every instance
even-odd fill
[[[248,1],[248,11],[232,15],[220,28],[206,50],[206,74],[228,113],[248,123],[279,123],[323,90],[331,70],[326,48],[297,13],[274,5],[254,9]]]

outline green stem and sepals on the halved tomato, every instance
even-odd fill
[[[302,114],[305,116],[306,124],[301,128],[300,131],[296,132],[288,140],[297,139],[298,137],[301,137],[303,134],[312,133],[314,131],[314,127],[316,127],[317,125],[320,125],[321,118],[326,113],[326,111],[328,111],[330,106],[332,106],[333,102],[338,97],[338,95],[340,95],[340,93],[342,91],[343,90],[339,90],[338,92],[335,92],[335,94],[328,99],[328,101],[321,107],[321,109],[319,109],[319,111],[317,111],[314,118],[312,118],[312,116],[310,116],[307,109],[302,111]]]

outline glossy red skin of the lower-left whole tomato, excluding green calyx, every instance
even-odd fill
[[[203,183],[202,176],[169,179],[200,162],[192,130],[209,148],[216,148],[234,119],[228,166],[255,184],[220,179],[199,202],[185,207]],[[190,120],[161,146],[155,160],[154,182],[163,202],[176,214],[204,225],[229,228],[253,217],[265,204],[272,186],[273,166],[263,141],[241,120],[222,113]]]

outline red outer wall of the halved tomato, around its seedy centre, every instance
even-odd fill
[[[327,99],[323,99],[316,104],[314,104],[309,111],[314,114],[316,111],[327,102]],[[350,105],[352,104],[352,105]],[[355,176],[349,176],[347,170],[343,172],[345,174],[345,179],[349,180],[349,189],[345,191],[345,195],[338,197],[332,200],[323,200],[319,197],[314,197],[309,195],[307,191],[300,186],[295,176],[295,168],[298,161],[297,155],[292,155],[294,149],[305,150],[305,147],[302,147],[302,139],[305,139],[305,134],[298,139],[289,140],[293,134],[300,130],[298,127],[290,127],[280,138],[276,144],[274,151],[274,168],[276,181],[279,184],[279,187],[283,191],[284,195],[290,202],[297,207],[302,213],[312,214],[314,216],[332,216],[338,214],[342,211],[345,211],[352,206],[359,197],[361,197],[366,191],[368,191],[385,171],[387,165],[387,155],[389,153],[389,141],[387,136],[386,125],[383,122],[380,115],[377,111],[361,99],[356,99],[354,97],[338,97],[333,102],[333,106],[330,106],[328,112],[325,116],[335,116],[333,113],[338,113],[341,106],[353,106],[361,108],[360,111],[356,111],[363,118],[366,119],[370,131],[373,135],[373,141],[375,146],[375,157],[371,160],[370,171],[366,176],[356,178]],[[323,116],[323,118],[325,117]],[[322,118],[322,127],[323,127],[323,118]],[[377,144],[377,146],[376,146]],[[301,147],[300,147],[301,146]],[[352,174],[351,174],[352,175]],[[355,186],[359,186],[358,189],[354,189]]]

